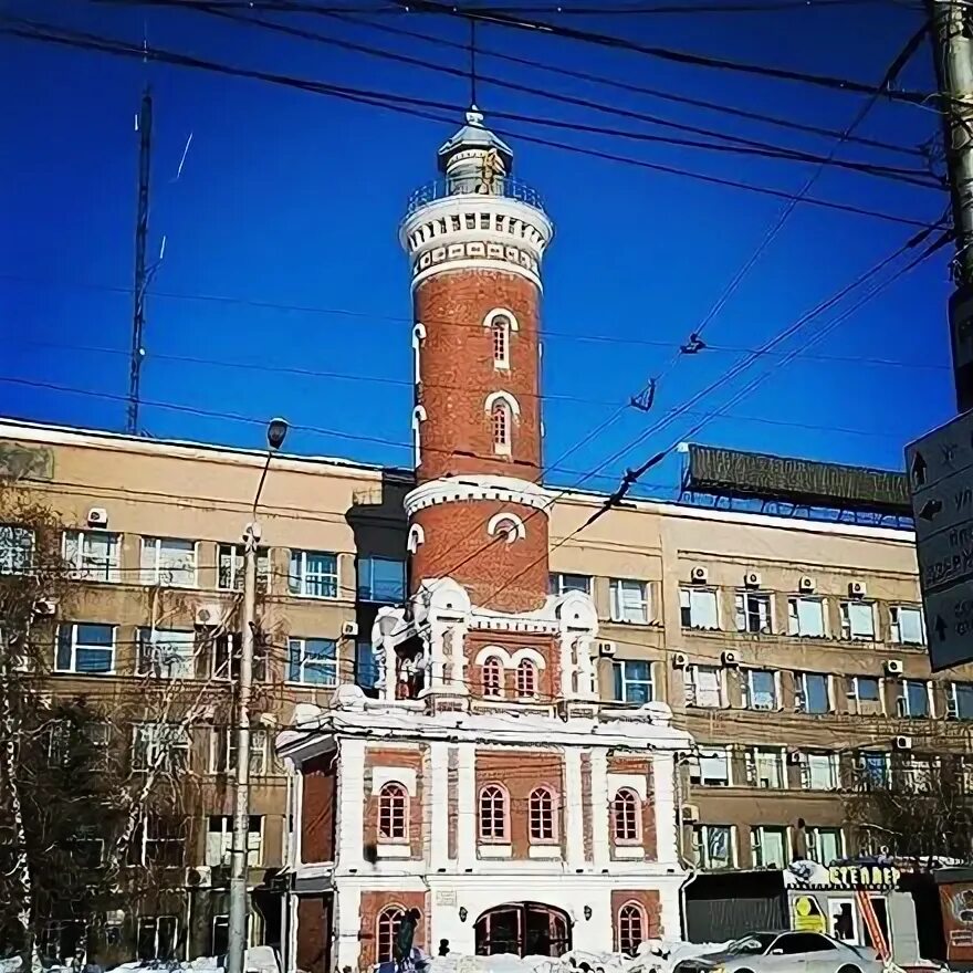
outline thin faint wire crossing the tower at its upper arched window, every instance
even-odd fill
[[[130,294],[130,287],[123,286],[113,286],[111,284],[96,284],[96,283],[84,283],[81,281],[55,281],[45,278],[35,278],[35,276],[22,276],[19,274],[4,274],[0,273],[0,280],[14,281],[19,283],[32,283],[32,284],[42,284],[45,287],[57,286],[57,287],[71,287],[76,290],[84,291],[104,291],[106,293],[115,293],[115,294]],[[412,323],[412,317],[406,315],[396,315],[396,314],[378,314],[372,313],[368,311],[353,311],[347,307],[326,307],[317,304],[289,304],[284,302],[278,301],[263,301],[255,300],[249,297],[240,297],[228,294],[189,294],[189,293],[180,293],[176,291],[158,291],[153,290],[153,297],[156,299],[165,299],[172,301],[199,301],[199,302],[210,302],[218,304],[239,304],[244,307],[254,307],[258,310],[266,310],[266,311],[284,311],[284,312],[296,312],[302,314],[324,314],[324,315],[335,315],[335,316],[348,316],[348,317],[358,317],[358,318],[368,318],[369,321],[381,321],[388,323]],[[446,321],[440,318],[425,318],[430,324],[435,324],[437,327],[464,327],[472,328],[475,331],[481,331],[482,325],[477,323],[467,323],[461,321]],[[637,337],[621,337],[617,335],[599,335],[599,334],[582,334],[575,332],[565,332],[565,331],[552,331],[544,328],[541,337],[544,341],[548,338],[563,338],[565,341],[575,341],[575,342],[587,342],[595,344],[608,344],[608,345],[626,345],[632,347],[649,347],[649,348],[678,348],[680,346],[680,342],[663,342],[652,338],[637,338]],[[29,342],[28,342],[29,343]],[[707,349],[709,352],[715,352],[720,354],[730,354],[730,353],[752,353],[755,352],[756,348],[747,347],[744,345],[713,345],[708,344]],[[778,356],[784,355],[783,352],[765,352],[762,353],[768,356]],[[156,357],[158,357],[156,355]],[[808,362],[841,362],[850,365],[877,365],[877,366],[886,366],[890,368],[909,368],[909,369],[921,369],[921,370],[935,370],[935,372],[948,372],[950,370],[949,365],[935,365],[933,363],[928,362],[903,362],[896,358],[876,358],[870,356],[857,356],[857,355],[809,355],[802,354],[798,355],[799,358],[804,358]]]

